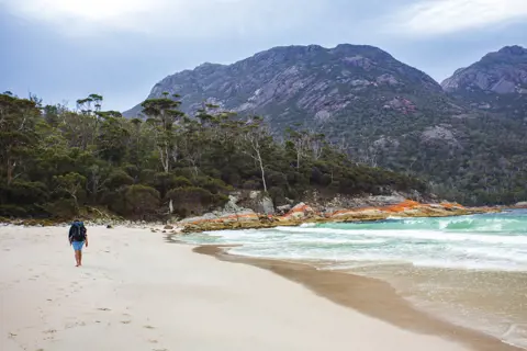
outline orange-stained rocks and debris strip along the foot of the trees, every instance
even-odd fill
[[[284,215],[264,215],[249,213],[223,213],[218,215],[205,214],[201,217],[182,218],[178,220],[130,220],[119,217],[89,217],[85,224],[89,226],[125,226],[130,228],[149,227],[152,230],[169,230],[171,234],[193,234],[217,230],[266,229],[276,227],[294,227],[302,224],[327,223],[361,223],[386,220],[391,217],[401,218],[445,218],[478,214],[500,213],[505,207],[464,207],[459,204],[440,203],[425,204],[406,200],[399,204],[380,207],[344,208],[333,213],[321,213],[310,205],[300,203]],[[68,226],[70,220],[59,218],[4,218],[0,217],[0,225],[25,227],[56,227]],[[155,229],[154,229],[155,228]],[[176,229],[176,230],[173,230]],[[168,231],[167,231],[168,233]]]

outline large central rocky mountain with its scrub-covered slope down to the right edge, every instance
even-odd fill
[[[498,56],[512,57],[514,67],[522,57],[517,50]],[[490,54],[486,65],[493,60],[500,61]],[[148,98],[178,93],[190,115],[204,102],[261,115],[277,134],[302,125],[324,133],[358,162],[417,174],[441,195],[464,203],[527,199],[526,123],[474,109],[456,92],[464,81],[452,77],[441,87],[373,46],[288,46],[169,76]],[[495,86],[489,79],[484,87]],[[519,93],[523,86],[517,86]],[[139,113],[137,105],[124,115]]]

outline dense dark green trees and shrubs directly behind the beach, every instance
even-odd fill
[[[273,139],[262,118],[204,105],[194,117],[178,97],[142,104],[145,118],[104,111],[91,94],[75,111],[0,94],[0,216],[71,218],[110,211],[133,219],[217,208],[234,189],[261,190],[276,205],[326,194],[425,192],[423,182],[357,166],[302,127]]]

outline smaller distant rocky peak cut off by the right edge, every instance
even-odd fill
[[[441,86],[472,107],[527,118],[527,49],[506,46],[490,53]]]

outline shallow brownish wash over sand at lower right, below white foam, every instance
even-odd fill
[[[351,274],[389,282],[413,306],[527,349],[527,273],[365,264]]]

